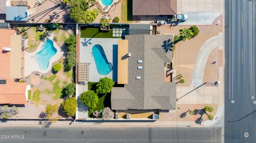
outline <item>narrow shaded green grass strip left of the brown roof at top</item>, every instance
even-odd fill
[[[132,0],[122,0],[122,22],[132,23]]]

